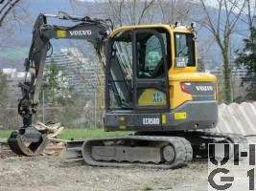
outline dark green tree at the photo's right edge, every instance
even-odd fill
[[[235,62],[239,67],[246,69],[246,75],[242,78],[242,86],[245,85],[248,100],[256,99],[256,29],[250,28],[250,36],[244,39],[244,48],[236,52],[238,57]]]

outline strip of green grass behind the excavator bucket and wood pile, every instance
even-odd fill
[[[12,130],[0,130],[0,138],[9,138]],[[81,138],[103,138],[109,136],[124,136],[132,132],[105,132],[104,129],[64,129],[58,138],[81,139]]]

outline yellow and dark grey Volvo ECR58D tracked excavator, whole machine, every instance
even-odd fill
[[[65,20],[65,26],[47,23]],[[59,23],[59,21],[58,21]],[[70,26],[71,25],[71,26]],[[23,126],[8,139],[18,155],[42,153],[48,139],[33,125],[51,39],[92,44],[105,71],[105,131],[129,136],[68,141],[67,152],[93,166],[175,168],[208,156],[213,142],[244,141],[240,135],[210,131],[218,122],[217,79],[198,73],[195,25],[138,25],[113,29],[111,20],[40,13],[25,59],[18,113]]]

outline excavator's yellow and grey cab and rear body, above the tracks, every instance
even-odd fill
[[[106,131],[215,127],[216,77],[197,72],[192,27],[123,27],[110,34],[106,50]]]

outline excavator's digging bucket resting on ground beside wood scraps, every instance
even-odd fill
[[[38,132],[33,126],[13,131],[8,138],[8,144],[13,153],[28,157],[40,155],[47,143],[46,135]]]

